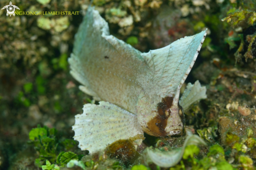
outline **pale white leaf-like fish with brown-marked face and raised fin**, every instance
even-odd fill
[[[88,8],[69,63],[80,89],[102,102],[85,104],[83,114],[75,116],[79,147],[94,153],[143,131],[157,137],[180,135],[184,126],[180,89],[206,32],[141,53],[109,35],[107,22]]]

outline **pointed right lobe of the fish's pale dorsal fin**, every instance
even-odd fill
[[[141,54],[150,70],[153,71],[154,83],[152,86],[159,87],[158,94],[161,97],[175,95],[177,91],[180,91],[195,63],[206,33],[207,29],[158,50],[150,50],[148,53]]]

